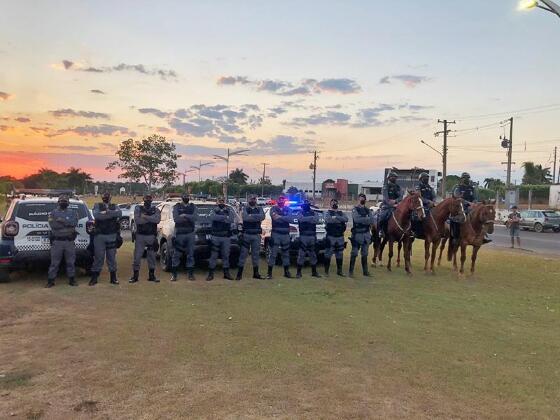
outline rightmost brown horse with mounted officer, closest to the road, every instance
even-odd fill
[[[478,250],[482,246],[484,234],[494,232],[494,219],[496,210],[492,204],[477,203],[471,206],[467,220],[461,224],[460,237],[458,244],[450,241],[447,248],[447,260],[453,260],[453,269],[457,270],[457,251],[461,248],[461,268],[459,274],[464,273],[465,260],[467,259],[467,246],[473,247],[471,256],[471,274],[474,274],[474,267]],[[442,247],[445,244],[442,244]],[[440,248],[440,253],[442,249]]]

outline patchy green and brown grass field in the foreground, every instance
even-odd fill
[[[560,262],[374,278],[0,284],[0,417],[557,418]],[[145,267],[144,267],[145,268]],[[264,265],[263,265],[264,268]]]

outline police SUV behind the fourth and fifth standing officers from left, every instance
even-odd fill
[[[175,233],[175,222],[173,221],[173,207],[180,202],[178,199],[169,199],[158,205],[161,211],[161,221],[158,224],[157,240],[159,244],[158,257],[164,271],[171,271],[171,255],[173,252],[173,236]],[[208,220],[210,212],[216,207],[215,203],[208,201],[190,201],[198,210],[198,220],[195,223],[194,232],[196,242],[194,248],[195,262],[210,258],[210,234],[212,223]],[[238,235],[242,229],[241,217],[234,207],[227,205],[235,214],[236,221],[231,224],[231,250],[230,265],[235,267],[239,259]],[[184,265],[182,265],[184,266]]]

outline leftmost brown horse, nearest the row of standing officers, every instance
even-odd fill
[[[422,221],[426,217],[422,198],[420,193],[409,191],[408,195],[397,205],[397,208],[390,216],[387,224],[387,235],[381,244],[381,249],[385,242],[389,242],[389,261],[387,262],[387,270],[391,271],[391,259],[393,258],[394,242],[402,242],[404,255],[404,269],[408,274],[410,271],[410,255],[414,234],[412,232],[412,213],[416,212],[418,220]]]

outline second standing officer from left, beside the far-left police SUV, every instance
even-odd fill
[[[103,193],[102,202],[93,206],[93,218],[95,219],[95,233],[93,235],[93,266],[91,267],[90,286],[97,284],[97,279],[103,263],[105,255],[107,256],[107,267],[111,277],[111,284],[119,284],[117,280],[117,248],[122,245],[120,237],[120,218],[122,211],[111,203],[111,194]]]

